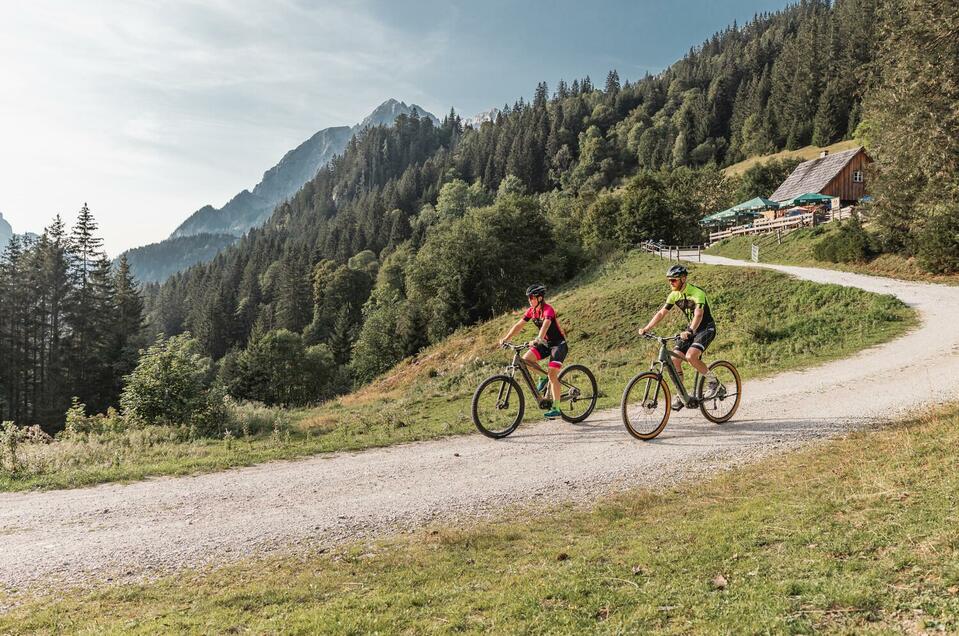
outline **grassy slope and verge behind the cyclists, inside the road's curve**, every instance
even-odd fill
[[[568,362],[593,369],[603,394],[600,408],[617,405],[627,380],[647,368],[655,354],[635,333],[666,297],[665,267],[654,256],[634,253],[550,294],[567,330]],[[707,360],[734,361],[747,381],[844,357],[902,334],[916,321],[914,312],[893,297],[796,281],[775,272],[694,265],[692,279],[709,294],[719,325]],[[517,290],[517,302],[522,300]],[[663,333],[675,333],[684,324],[678,311],[673,314]],[[186,431],[147,428],[21,449],[20,470],[0,470],[0,490],[212,471],[473,432],[473,390],[505,366],[507,355],[495,343],[518,315],[462,329],[369,386],[320,408],[273,419],[251,411],[245,421],[263,423],[252,432],[237,427],[223,440],[194,440]],[[531,339],[533,327],[522,335]],[[541,417],[528,404],[527,420]]]

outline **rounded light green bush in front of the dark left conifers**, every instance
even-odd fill
[[[185,424],[208,416],[211,365],[189,333],[157,340],[125,378],[124,415],[143,424]]]

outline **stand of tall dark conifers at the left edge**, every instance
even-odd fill
[[[114,267],[84,205],[37,240],[14,237],[0,259],[0,420],[61,422],[77,397],[115,405],[143,346],[143,298]]]

